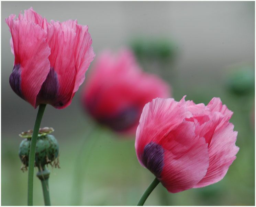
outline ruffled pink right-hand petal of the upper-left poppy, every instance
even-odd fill
[[[58,78],[58,94],[51,104],[62,109],[71,103],[95,54],[88,27],[76,21],[52,21],[47,33],[51,48],[49,61]]]

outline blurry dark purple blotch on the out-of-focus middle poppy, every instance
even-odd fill
[[[139,110],[136,107],[131,107],[112,116],[100,118],[98,121],[114,131],[120,132],[132,127],[137,122],[139,115]]]

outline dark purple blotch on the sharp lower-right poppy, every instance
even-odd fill
[[[142,155],[144,166],[157,178],[160,178],[164,167],[164,149],[161,145],[151,142],[144,147]]]

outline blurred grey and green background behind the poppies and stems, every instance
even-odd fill
[[[14,57],[4,18],[32,6],[48,20],[87,24],[96,59],[103,49],[131,47],[143,70],[171,84],[176,100],[187,95],[207,104],[220,97],[234,111],[240,151],[225,178],[177,194],[158,185],[145,205],[254,205],[254,4],[1,2],[1,204],[26,205],[27,172],[20,170],[18,134],[32,129],[37,113],[9,85]],[[97,126],[81,108],[80,92],[66,109],[47,106],[41,125],[54,127],[60,145],[61,168],[50,167],[52,205],[136,205],[154,176],[139,165],[134,137]],[[35,177],[34,205],[43,204]]]

